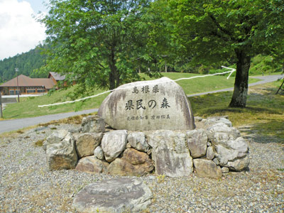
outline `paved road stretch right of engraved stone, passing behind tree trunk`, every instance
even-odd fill
[[[251,84],[249,84],[249,87],[255,86],[255,85],[258,85],[258,84],[266,84],[266,83],[269,83],[269,82],[275,82],[280,77],[283,77],[283,75],[253,76],[251,78],[256,78],[256,79],[259,79],[261,81],[258,81],[258,82],[255,82],[255,83],[251,83]],[[232,90],[234,90],[234,87],[230,87],[230,88],[226,88],[226,89],[214,90],[214,91],[210,91],[210,92],[201,92],[201,93],[197,93],[197,94],[189,94],[189,95],[187,95],[187,97],[194,97],[194,96],[199,96],[199,95],[202,95],[202,94],[211,94],[211,93],[216,93],[216,92],[226,92],[226,91],[232,91]]]

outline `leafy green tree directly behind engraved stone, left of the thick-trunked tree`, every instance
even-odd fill
[[[145,47],[142,17],[148,0],[51,0],[45,69],[66,74],[82,87],[114,89],[138,77],[136,58]]]

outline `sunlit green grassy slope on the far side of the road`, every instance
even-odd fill
[[[170,77],[172,80],[177,80],[182,77],[193,77],[195,74],[190,73],[163,73],[163,76]],[[149,80],[149,77],[145,77]],[[251,79],[250,82],[256,82],[257,80]],[[201,77],[192,80],[181,80],[178,82],[180,86],[185,90],[186,94],[195,94],[198,92],[208,92],[217,89],[224,89],[234,86],[234,78],[231,77],[226,80],[224,76],[211,76]],[[21,98],[20,103],[9,104],[4,110],[4,119],[19,119],[31,116],[42,116],[45,114],[57,114],[67,111],[80,111],[83,109],[99,108],[100,104],[107,97],[107,94],[92,99],[84,100],[83,102],[75,102],[72,104],[62,104],[52,107],[38,107],[38,105],[53,104],[58,102],[70,101],[68,94],[72,94],[74,89],[77,87],[71,87],[70,89],[62,89],[53,92],[50,95],[44,95],[42,97],[27,97]],[[104,92],[103,90],[97,90],[94,94]]]

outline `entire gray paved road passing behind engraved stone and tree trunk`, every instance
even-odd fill
[[[260,76],[260,77],[254,77],[258,78],[262,81],[255,82],[252,84],[249,84],[249,86],[257,85],[257,84],[265,84],[268,82],[274,82],[275,80],[278,80],[278,78],[283,77],[282,75],[266,75],[266,76]],[[198,94],[190,94],[187,97],[193,97],[193,96],[199,96],[202,94],[209,94],[209,93],[215,93],[215,92],[224,92],[224,91],[230,91],[234,88],[228,88],[228,89],[219,89],[212,92],[202,92]],[[84,111],[77,111],[77,112],[67,112],[62,114],[50,114],[46,116],[38,116],[34,118],[27,118],[27,119],[15,119],[15,120],[6,120],[6,121],[0,121],[0,133],[4,133],[6,131],[14,131],[17,129],[23,129],[28,126],[33,126],[36,124],[42,124],[47,123],[49,121],[59,120],[59,119],[65,119],[70,116],[75,116],[79,114],[89,114],[94,111],[98,111],[98,109],[88,109]]]

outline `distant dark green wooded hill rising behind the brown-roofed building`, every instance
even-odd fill
[[[18,68],[18,75],[29,77],[48,77],[46,73],[33,72],[45,65],[46,55],[43,55],[43,46],[38,45],[27,53],[18,54],[11,58],[0,60],[0,84],[16,77],[15,68]]]

